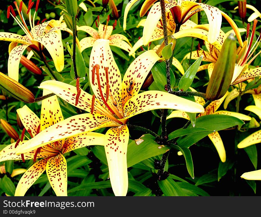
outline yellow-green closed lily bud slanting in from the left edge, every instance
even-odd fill
[[[12,97],[25,102],[34,103],[34,94],[24,87],[22,84],[18,83],[14,79],[8,77],[4,73],[0,72],[0,88],[5,92],[9,93]]]

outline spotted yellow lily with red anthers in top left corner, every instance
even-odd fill
[[[29,1],[28,13],[29,13],[29,21],[31,27],[31,31],[30,31],[26,25],[25,19],[23,18],[23,13],[22,13],[23,2],[22,1],[20,2],[19,7],[16,1],[14,1],[14,4],[15,7],[17,8],[17,12],[19,14],[20,19],[16,16],[12,5],[10,5],[7,9],[7,17],[9,18],[9,16],[11,15],[14,18],[14,20],[17,22],[17,24],[21,27],[25,35],[22,36],[15,33],[0,32],[0,40],[11,42],[9,45],[8,76],[13,78],[15,81],[18,81],[18,70],[19,70],[20,59],[21,56],[23,55],[23,52],[28,47],[36,51],[37,53],[41,53],[43,47],[45,47],[53,59],[56,70],[58,72],[63,70],[64,67],[63,43],[62,43],[60,31],[65,30],[70,34],[72,34],[72,31],[63,26],[55,26],[50,29],[48,26],[52,26],[53,23],[56,22],[54,20],[35,25],[34,18],[38,10],[39,0],[36,1],[36,9],[32,21],[31,21],[31,7],[33,6],[34,2]]]

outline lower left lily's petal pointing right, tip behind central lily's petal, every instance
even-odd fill
[[[62,154],[89,145],[104,145],[104,134],[89,132],[72,136],[66,139]]]

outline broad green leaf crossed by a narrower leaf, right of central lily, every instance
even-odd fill
[[[238,125],[239,128],[244,122],[236,117],[225,115],[225,114],[209,114],[197,118],[196,127],[207,128],[213,131],[224,130],[233,126]],[[188,128],[193,128],[191,125]],[[190,133],[187,136],[180,137],[176,142],[180,147],[190,147],[200,139],[211,132],[196,132]]]

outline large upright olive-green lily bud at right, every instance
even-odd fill
[[[234,73],[236,39],[233,33],[225,39],[206,89],[207,100],[218,100],[227,92]]]

